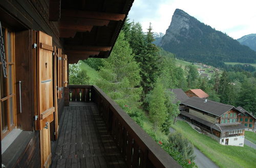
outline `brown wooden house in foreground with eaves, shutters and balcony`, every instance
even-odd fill
[[[179,167],[98,87],[68,85],[69,64],[109,57],[132,4],[0,1],[6,167]]]

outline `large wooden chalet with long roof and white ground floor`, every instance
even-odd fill
[[[222,145],[244,146],[245,126],[239,123],[241,112],[234,106],[190,97],[182,102],[180,116],[198,126]]]

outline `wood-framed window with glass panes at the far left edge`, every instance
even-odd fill
[[[0,66],[0,113],[2,117],[2,139],[15,127],[15,90],[14,90],[14,35],[9,29],[2,29],[7,66],[7,78],[4,77],[2,65]]]

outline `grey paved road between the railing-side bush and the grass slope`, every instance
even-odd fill
[[[169,128],[170,132],[174,132],[175,129]],[[199,168],[218,168],[218,166],[212,162],[208,157],[206,157],[202,152],[200,152],[196,147],[194,147],[194,154],[196,159],[194,162]]]

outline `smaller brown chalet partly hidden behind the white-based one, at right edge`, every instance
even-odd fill
[[[238,106],[237,109],[242,113],[238,115],[238,121],[247,127],[248,130],[255,131],[256,118],[241,106]]]

